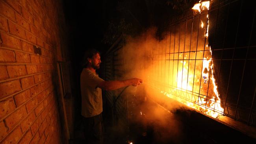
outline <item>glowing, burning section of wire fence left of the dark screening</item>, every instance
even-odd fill
[[[154,79],[149,83],[163,84],[160,90],[166,96],[216,118],[223,108],[208,45],[209,6],[210,1],[195,4],[193,15],[199,15],[174,23],[165,35],[170,45],[160,43],[152,50]]]

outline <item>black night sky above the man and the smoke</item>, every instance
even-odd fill
[[[196,0],[183,0],[186,5]],[[76,49],[96,48],[105,52],[108,44],[102,43],[109,22],[116,26],[122,18],[132,24],[133,34],[138,35],[150,26],[159,27],[170,18],[173,6],[180,0],[63,0],[64,12]]]

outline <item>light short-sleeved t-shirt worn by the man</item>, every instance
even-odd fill
[[[81,96],[82,96],[82,116],[89,118],[96,116],[103,111],[101,89],[96,87],[104,81],[97,74],[83,68],[80,75]]]

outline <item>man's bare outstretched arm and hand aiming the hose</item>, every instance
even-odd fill
[[[97,87],[104,90],[116,90],[121,87],[126,87],[129,85],[133,85],[134,87],[137,87],[137,85],[140,85],[142,82],[143,80],[138,78],[126,79],[122,81],[102,81],[97,85]]]

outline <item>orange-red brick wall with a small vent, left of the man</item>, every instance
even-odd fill
[[[1,144],[62,143],[55,83],[64,23],[59,0],[0,0]]]

